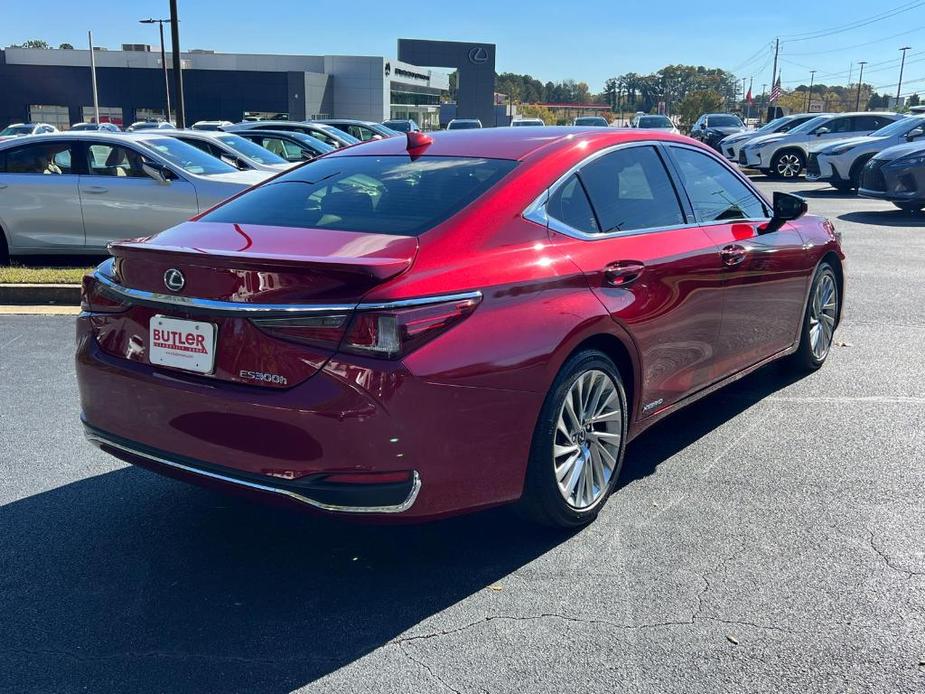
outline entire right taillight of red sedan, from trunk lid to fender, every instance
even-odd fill
[[[465,319],[481,297],[420,306],[364,308],[351,318],[326,314],[299,318],[256,318],[264,332],[283,340],[351,354],[397,359]]]

